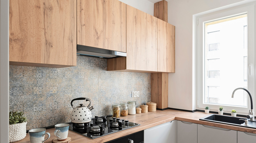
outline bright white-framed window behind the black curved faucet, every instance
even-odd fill
[[[247,93],[254,95],[254,6],[198,16],[197,95],[198,108],[248,112]],[[253,71],[253,70],[250,70]],[[254,99],[254,97],[253,97]],[[253,102],[255,104],[255,102]]]

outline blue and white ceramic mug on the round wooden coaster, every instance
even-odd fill
[[[62,123],[55,125],[54,135],[57,136],[58,141],[64,141],[68,137],[69,124]]]

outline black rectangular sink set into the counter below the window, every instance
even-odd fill
[[[248,121],[248,126],[245,126],[245,121],[244,120],[239,120],[239,119],[246,119],[246,118],[211,114],[211,115],[205,116],[205,117],[203,117],[199,120],[256,129],[256,122],[255,121],[250,121],[249,120]]]

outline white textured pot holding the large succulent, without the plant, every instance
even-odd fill
[[[9,142],[22,140],[26,137],[27,122],[9,125]]]

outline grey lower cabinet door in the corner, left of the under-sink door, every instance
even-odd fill
[[[177,143],[197,143],[197,124],[177,121]]]

